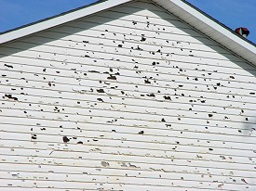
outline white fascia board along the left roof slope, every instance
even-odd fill
[[[130,1],[132,0],[108,0],[96,5],[74,10],[74,12],[70,12],[65,15],[60,15],[53,19],[47,19],[45,21],[35,23],[31,26],[20,28],[15,31],[3,33],[0,35],[0,45],[24,36],[28,36],[35,32],[41,32],[49,28],[56,27],[58,25],[61,25],[63,23],[66,23],[75,19],[87,17],[88,15],[100,12],[102,10],[105,10],[114,6],[122,5]]]

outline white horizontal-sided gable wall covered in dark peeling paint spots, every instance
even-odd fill
[[[1,45],[0,69],[0,190],[256,189],[255,67],[161,7]]]

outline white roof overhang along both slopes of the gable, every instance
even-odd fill
[[[35,32],[42,32],[52,27],[59,26],[63,23],[87,17],[102,10],[120,6],[122,4],[132,2],[133,0],[108,0],[92,6],[86,6],[58,17],[46,19],[36,22],[32,25],[25,26],[0,35],[0,45],[7,42],[28,36]],[[237,56],[249,61],[256,66],[256,46],[251,42],[236,35],[235,32],[223,26],[222,23],[210,18],[194,6],[185,2],[185,0],[151,0],[158,6],[162,6],[168,12],[176,17],[184,20],[186,23],[194,27],[197,31],[205,33],[209,38],[216,41],[220,45],[234,52]]]

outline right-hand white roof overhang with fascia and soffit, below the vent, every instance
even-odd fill
[[[159,6],[167,9],[176,17],[195,27],[200,32],[205,33],[211,39],[228,48],[236,55],[245,58],[256,66],[256,47],[249,44],[233,32],[225,29],[213,19],[209,19],[194,7],[182,2],[182,0],[152,0]],[[207,26],[207,28],[206,28]],[[241,51],[243,50],[243,51]],[[243,54],[247,52],[247,54]]]

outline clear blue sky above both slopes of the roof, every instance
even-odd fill
[[[86,6],[97,0],[0,0],[0,32]],[[256,0],[187,0],[231,29],[247,27],[256,44]]]

